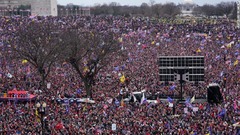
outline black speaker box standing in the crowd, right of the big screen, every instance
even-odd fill
[[[222,94],[220,92],[220,86],[217,84],[211,84],[207,89],[207,101],[208,103],[221,103],[223,101]]]

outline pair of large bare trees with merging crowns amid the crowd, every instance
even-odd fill
[[[16,58],[27,60],[37,69],[42,89],[54,63],[67,62],[78,73],[88,97],[92,97],[91,87],[97,73],[107,65],[112,54],[121,54],[112,31],[98,32],[81,27],[60,29],[52,23],[22,25],[9,43]]]

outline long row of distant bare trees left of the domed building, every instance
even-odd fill
[[[121,6],[116,2],[109,5],[96,5],[91,8],[94,15],[124,15],[124,16],[176,16],[181,13],[174,3],[154,4],[142,3],[141,6]]]

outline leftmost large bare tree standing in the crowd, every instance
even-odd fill
[[[21,25],[10,40],[17,57],[26,59],[41,75],[40,86],[51,71],[51,66],[59,58],[62,47],[59,45],[58,28],[46,22],[30,22]]]

